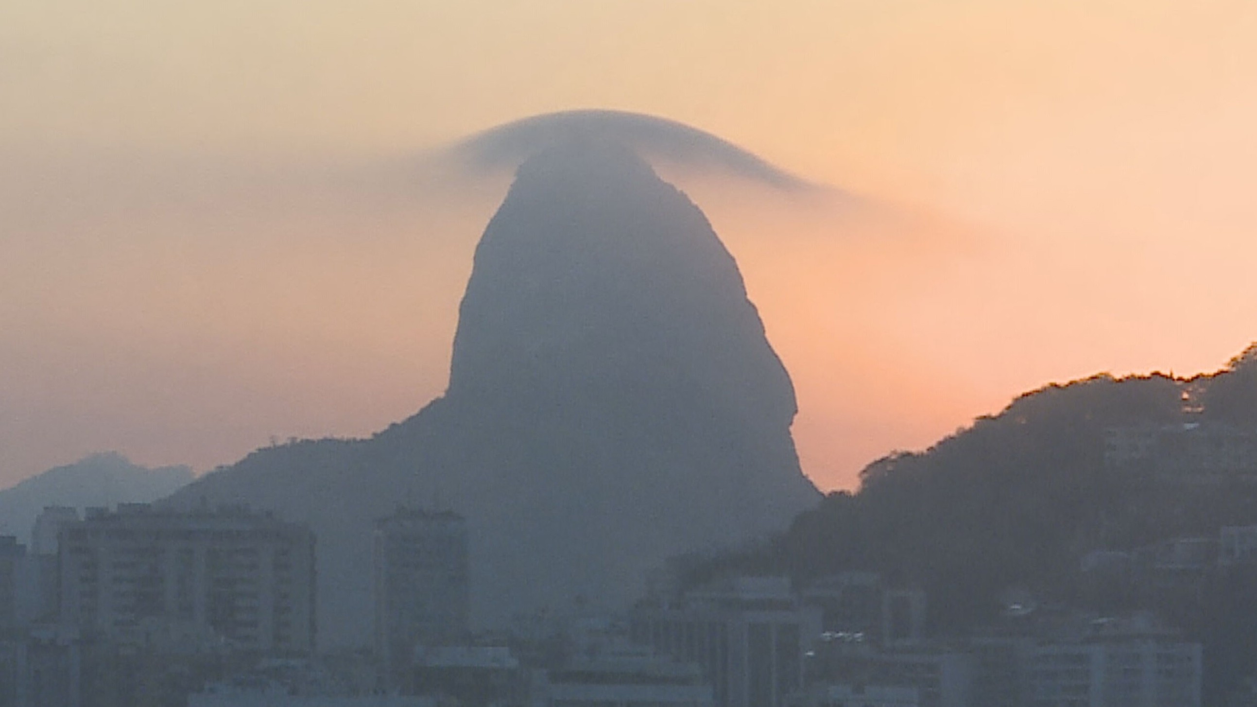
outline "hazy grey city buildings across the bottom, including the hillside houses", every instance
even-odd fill
[[[1248,430],[1193,421],[1115,426],[1102,439],[1106,473],[1177,493],[1257,496],[1257,435]],[[1257,525],[1092,548],[1077,560],[1067,600],[1009,586],[964,630],[939,626],[929,593],[906,577],[869,569],[810,580],[747,575],[720,569],[713,555],[662,562],[620,611],[576,596],[475,629],[468,520],[398,506],[373,523],[373,611],[357,618],[373,642],[331,649],[318,637],[316,543],[307,525],[246,506],[45,507],[29,545],[0,538],[0,698],[1189,706],[1203,703],[1205,679],[1243,677],[1257,642]],[[1218,618],[1241,635],[1210,626]],[[1205,647],[1217,664],[1207,665]],[[1232,689],[1226,703],[1251,699]]]

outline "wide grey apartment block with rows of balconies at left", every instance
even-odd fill
[[[248,508],[91,509],[60,526],[59,613],[85,637],[314,649],[314,535]]]

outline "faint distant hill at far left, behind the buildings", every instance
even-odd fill
[[[45,506],[150,503],[192,481],[190,467],[150,469],[114,452],[93,454],[73,464],[48,469],[0,491],[0,533],[30,541],[30,526]]]

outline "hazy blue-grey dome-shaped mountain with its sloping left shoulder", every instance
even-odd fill
[[[783,528],[820,498],[794,392],[703,213],[631,151],[551,147],[476,249],[446,394],[370,440],[254,453],[173,501],[314,526],[324,644],[371,629],[370,527],[468,517],[479,624],[615,606],[665,557]]]

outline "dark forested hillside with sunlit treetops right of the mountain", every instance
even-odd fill
[[[1257,523],[1244,474],[1203,483],[1105,463],[1112,430],[1175,425],[1257,433],[1257,346],[1212,375],[1097,375],[1024,394],[924,452],[870,464],[856,493],[831,493],[787,533],[696,562],[688,579],[875,570],[925,589],[936,632],[991,618],[1009,589],[1073,601],[1087,552]]]

